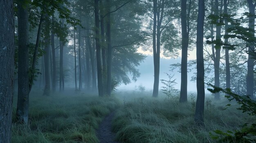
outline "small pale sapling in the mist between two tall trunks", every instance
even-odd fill
[[[177,97],[177,93],[179,92],[179,90],[177,90],[174,86],[177,84],[175,82],[176,79],[173,79],[174,75],[168,74],[166,73],[166,75],[168,76],[168,80],[165,79],[161,79],[161,83],[164,84],[164,86],[162,86],[162,91],[163,93],[168,97],[168,99],[170,98],[176,98]]]

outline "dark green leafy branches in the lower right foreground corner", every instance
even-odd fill
[[[240,105],[238,110],[242,110],[243,112],[247,112],[247,114],[251,115],[253,119],[255,119],[256,115],[256,101],[250,99],[249,95],[240,96],[233,93],[230,89],[222,89],[215,87],[211,84],[208,84],[213,89],[208,88],[208,90],[212,93],[223,92],[225,93],[225,97],[229,100],[236,100],[238,105]],[[231,104],[227,104],[226,106],[231,106]],[[215,130],[213,133],[210,132],[210,136],[212,139],[218,139],[221,142],[229,142],[229,143],[255,143],[256,142],[256,124],[255,123],[245,123],[242,125],[240,130],[235,131],[226,131],[223,132],[221,130]]]

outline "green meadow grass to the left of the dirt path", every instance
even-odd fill
[[[99,143],[99,123],[120,105],[115,98],[84,93],[41,95],[30,96],[27,125],[15,119],[14,97],[12,143]]]

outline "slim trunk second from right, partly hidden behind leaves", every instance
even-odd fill
[[[224,0],[224,13],[227,13],[227,0]],[[228,21],[225,20],[225,35],[229,34],[227,32],[228,29]],[[228,44],[229,43],[229,39],[226,38],[225,39],[225,43]],[[225,49],[225,62],[226,62],[226,88],[230,88],[230,64],[229,64],[229,49],[226,48]]]

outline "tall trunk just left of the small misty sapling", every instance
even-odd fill
[[[153,97],[157,97],[158,96],[158,86],[159,86],[159,75],[158,75],[158,80],[157,80],[157,46],[156,46],[157,0],[153,0],[153,13],[154,13],[154,18],[153,18],[153,20],[154,20],[154,23],[153,23],[153,58],[154,58]]]

